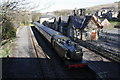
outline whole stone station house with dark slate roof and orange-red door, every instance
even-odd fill
[[[81,40],[98,40],[101,28],[96,16],[69,16],[67,36]]]

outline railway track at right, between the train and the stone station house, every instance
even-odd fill
[[[102,55],[103,57],[109,60],[120,62],[120,52],[116,52],[115,50],[109,49],[109,47],[103,46],[105,44],[100,44],[99,42],[96,41],[82,41],[82,40],[78,40],[76,42],[84,46],[85,48]]]

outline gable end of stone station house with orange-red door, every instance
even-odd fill
[[[92,15],[86,16],[83,24],[80,27],[80,39],[81,40],[98,40],[99,38],[99,30],[102,25],[99,22],[99,19]]]

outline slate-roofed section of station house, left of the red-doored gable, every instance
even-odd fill
[[[71,39],[74,39],[76,37],[79,37],[80,35],[80,26],[82,25],[82,22],[84,20],[84,17],[82,16],[69,16],[68,19],[68,26],[67,26],[67,36]]]

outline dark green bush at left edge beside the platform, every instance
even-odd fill
[[[10,39],[13,37],[16,37],[16,29],[14,28],[13,23],[10,21],[4,22],[2,28],[2,38]]]

